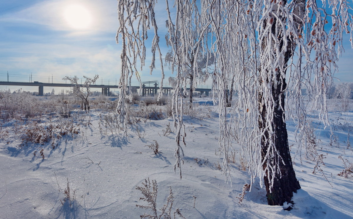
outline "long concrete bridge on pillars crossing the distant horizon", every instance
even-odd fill
[[[150,81],[148,81],[150,82]],[[155,81],[154,81],[155,82]],[[74,84],[69,84],[69,83],[42,83],[38,81],[34,82],[16,82],[16,81],[0,81],[0,85],[6,85],[6,86],[37,86],[38,87],[38,95],[43,96],[43,90],[44,87],[74,87]],[[154,83],[154,86],[146,86],[144,83],[142,84],[142,96],[154,96],[157,93],[157,90],[159,90],[159,87],[157,87],[157,83]],[[84,87],[84,85],[79,84],[80,87]],[[109,95],[110,88],[116,88],[120,89],[120,86],[118,85],[90,85],[92,88],[102,88],[102,94]],[[139,86],[131,86],[132,88],[140,89]],[[169,94],[171,90],[173,90],[173,87],[162,87],[163,93],[164,94]],[[208,93],[211,91],[211,89],[208,88],[196,88],[194,91],[200,92],[201,94]]]

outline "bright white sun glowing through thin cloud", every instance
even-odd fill
[[[87,29],[92,23],[91,13],[82,5],[70,5],[65,8],[64,17],[74,29]]]

